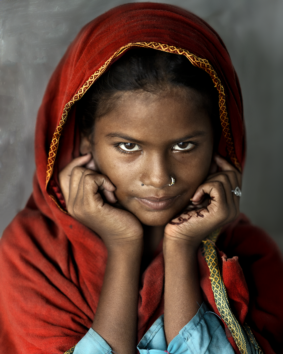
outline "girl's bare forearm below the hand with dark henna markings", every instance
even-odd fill
[[[167,345],[194,317],[202,303],[197,252],[185,242],[164,237],[164,331]]]

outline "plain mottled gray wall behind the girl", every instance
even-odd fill
[[[122,0],[0,0],[0,234],[32,190],[34,126],[47,81],[82,25]],[[283,1],[162,0],[204,18],[242,86],[241,210],[283,249]]]

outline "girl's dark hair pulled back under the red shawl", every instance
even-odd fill
[[[218,92],[209,74],[183,55],[148,48],[127,51],[80,99],[76,108],[80,132],[91,136],[94,121],[115,107],[123,91],[158,93],[172,86],[190,89],[198,107],[209,114],[218,141],[221,133]]]

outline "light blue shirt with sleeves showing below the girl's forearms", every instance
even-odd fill
[[[140,354],[234,354],[218,316],[203,303],[197,314],[172,339],[168,347],[163,315],[145,333],[137,346]],[[108,343],[92,328],[76,345],[74,354],[112,354]],[[119,353],[122,354],[122,353]]]

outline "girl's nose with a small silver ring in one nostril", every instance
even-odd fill
[[[170,177],[170,168],[166,158],[161,156],[152,156],[145,159],[142,166],[141,183],[162,189],[169,185],[172,180]]]

